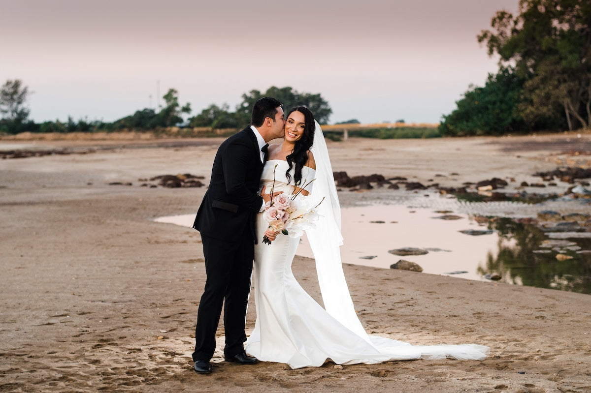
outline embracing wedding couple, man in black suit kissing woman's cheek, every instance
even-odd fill
[[[281,143],[267,145],[280,137]],[[275,99],[256,101],[251,126],[217,150],[193,228],[201,232],[207,274],[193,352],[193,368],[200,374],[212,372],[222,306],[229,362],[261,360],[296,369],[327,360],[486,358],[489,349],[482,345],[414,346],[365,332],[342,270],[340,205],[328,149],[307,107],[284,114]],[[316,259],[324,308],[291,272],[303,231]],[[251,275],[256,322],[247,339]]]

